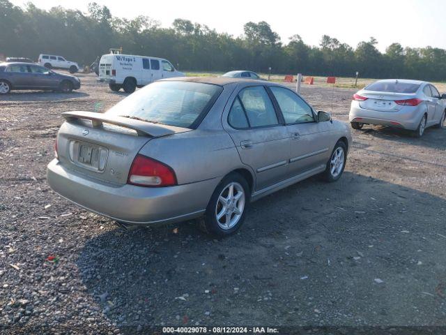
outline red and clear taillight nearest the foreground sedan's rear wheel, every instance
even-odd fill
[[[160,161],[143,155],[137,155],[128,174],[127,184],[162,187],[176,185],[174,170]]]

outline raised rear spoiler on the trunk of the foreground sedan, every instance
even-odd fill
[[[165,124],[153,124],[151,122],[130,119],[128,117],[118,117],[97,112],[64,112],[62,113],[62,116],[68,122],[73,122],[79,119],[90,120],[93,128],[102,127],[102,124],[113,124],[115,126],[129,128],[136,131],[138,136],[160,137],[192,130],[189,128],[167,126]]]

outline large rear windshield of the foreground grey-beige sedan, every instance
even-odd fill
[[[194,128],[222,89],[200,82],[154,82],[123,99],[107,114]]]

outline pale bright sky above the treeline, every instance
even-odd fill
[[[30,0],[13,0],[24,6]],[[32,0],[39,8],[53,6],[86,12],[92,0]],[[249,21],[268,22],[288,43],[299,34],[305,43],[318,45],[323,34],[356,47],[361,40],[374,36],[381,51],[394,42],[410,47],[446,49],[446,1],[444,0],[353,0],[262,1],[262,0],[170,0],[132,1],[96,0],[112,15],[135,17],[147,15],[162,27],[170,27],[176,18],[206,24],[211,29],[233,36],[243,34]]]

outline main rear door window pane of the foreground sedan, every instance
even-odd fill
[[[248,87],[238,94],[251,127],[279,124],[274,106],[262,86]]]

